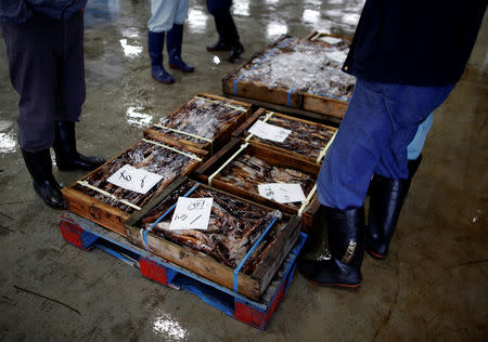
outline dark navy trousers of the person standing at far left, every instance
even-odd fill
[[[55,121],[78,121],[86,97],[84,15],[55,21],[35,15],[2,24],[10,79],[20,94],[18,144],[27,152],[52,146]]]

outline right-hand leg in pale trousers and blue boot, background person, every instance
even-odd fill
[[[168,40],[166,41],[166,48],[169,55],[169,66],[174,69],[181,70],[183,73],[193,73],[194,67],[187,64],[181,58],[181,45],[183,44],[183,24],[188,17],[188,0],[178,2],[176,11],[175,23],[172,28],[168,31]]]

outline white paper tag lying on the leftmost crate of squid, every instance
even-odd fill
[[[107,182],[139,194],[147,193],[163,179],[162,175],[125,165]]]

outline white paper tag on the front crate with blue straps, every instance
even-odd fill
[[[208,227],[214,198],[179,197],[169,231],[203,229]]]

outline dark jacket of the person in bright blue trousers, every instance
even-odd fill
[[[343,70],[386,83],[455,83],[487,0],[367,0]]]

